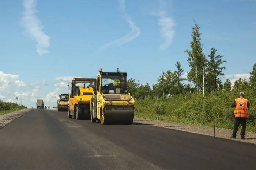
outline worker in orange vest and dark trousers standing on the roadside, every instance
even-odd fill
[[[235,99],[235,101],[232,103],[231,107],[235,107],[234,115],[235,115],[235,124],[234,124],[234,130],[233,134],[230,138],[236,139],[238,127],[240,123],[242,124],[242,130],[241,130],[241,139],[245,139],[245,129],[246,129],[246,122],[247,118],[249,116],[249,101],[244,98],[244,92],[239,93],[239,98]]]

